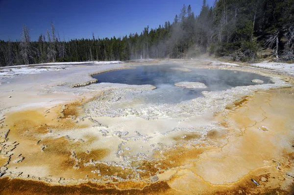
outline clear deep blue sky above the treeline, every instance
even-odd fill
[[[211,6],[214,0],[207,0]],[[198,15],[202,0],[0,0],[0,40],[20,40],[22,25],[33,41],[50,22],[61,39],[120,37],[172,23],[185,4]]]

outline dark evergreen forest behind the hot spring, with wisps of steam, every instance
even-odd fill
[[[24,25],[21,41],[0,41],[0,66],[71,61],[190,58],[208,52],[248,61],[261,49],[294,60],[293,0],[203,0],[194,15],[185,5],[172,24],[147,26],[139,35],[97,39],[60,39],[54,24],[38,41]]]

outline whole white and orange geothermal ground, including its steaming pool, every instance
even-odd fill
[[[2,68],[0,194],[291,194],[292,67],[149,60]]]

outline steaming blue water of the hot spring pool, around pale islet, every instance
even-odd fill
[[[136,69],[110,71],[93,75],[98,83],[123,83],[129,85],[154,85],[157,89],[142,93],[146,103],[177,103],[196,97],[202,97],[202,91],[221,91],[236,86],[257,85],[252,79],[272,83],[269,77],[256,73],[234,72],[218,69],[192,69],[182,72],[171,69],[171,65],[138,66]],[[174,83],[189,81],[204,83],[207,88],[186,89],[176,87]]]

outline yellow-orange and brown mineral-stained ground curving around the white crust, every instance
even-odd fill
[[[83,113],[90,99],[7,113],[0,123],[0,167],[11,174],[0,178],[0,194],[292,194],[293,92],[278,88],[238,98],[213,116],[218,128],[205,135],[158,134],[165,144],[137,159],[133,150],[146,142],[124,146],[121,134],[103,132],[120,119],[93,127]],[[144,128],[160,127],[145,122]],[[134,160],[118,164],[117,155]]]

